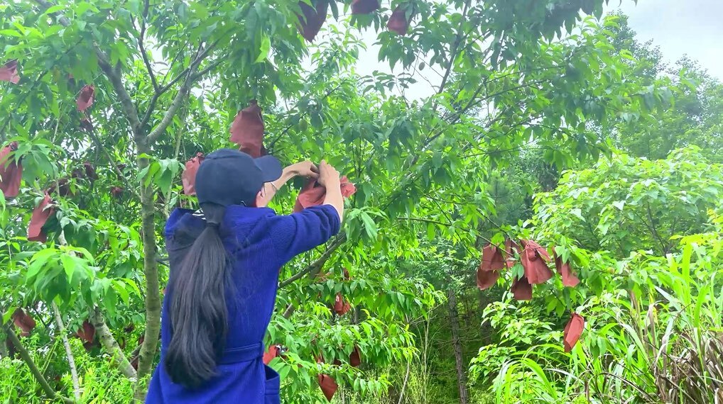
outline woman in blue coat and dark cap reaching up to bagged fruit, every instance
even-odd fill
[[[288,216],[265,207],[291,177],[317,178],[322,205]],[[262,361],[278,271],[339,231],[339,173],[325,162],[281,169],[270,156],[221,149],[196,175],[200,212],[166,224],[171,271],[161,317],[161,363],[146,403],[280,403],[279,377]]]

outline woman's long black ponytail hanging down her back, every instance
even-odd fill
[[[226,286],[230,263],[219,226],[226,208],[201,206],[206,227],[185,252],[168,283],[171,343],[166,350],[168,376],[186,387],[214,377],[228,333]]]

